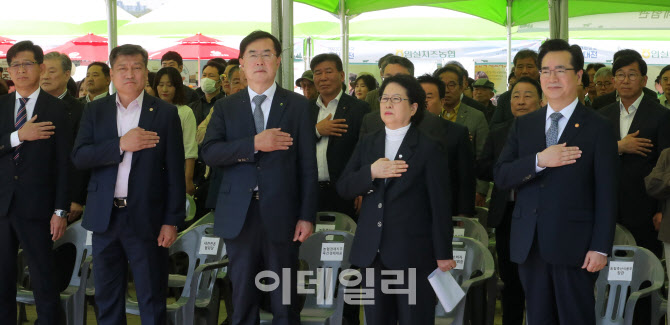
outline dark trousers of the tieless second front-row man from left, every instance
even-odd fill
[[[93,233],[93,275],[99,325],[126,324],[128,263],[142,325],[166,323],[168,250],[137,235],[127,208],[112,208],[107,231]],[[147,230],[144,230],[147,231]]]

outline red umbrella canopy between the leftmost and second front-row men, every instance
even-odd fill
[[[60,52],[73,61],[102,61],[109,59],[107,39],[94,34],[77,37],[47,52]]]

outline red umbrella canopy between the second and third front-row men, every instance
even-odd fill
[[[237,59],[240,51],[219,44],[216,38],[204,36],[200,33],[184,38],[178,45],[168,47],[149,54],[149,59],[160,59],[167,51],[175,51],[187,60],[209,60],[213,58]]]

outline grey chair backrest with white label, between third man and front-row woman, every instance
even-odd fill
[[[298,279],[298,287],[316,289],[314,294],[308,294],[305,300],[306,309],[336,309],[338,295],[343,290],[338,289],[340,272],[351,268],[349,252],[354,241],[354,235],[348,231],[324,230],[314,233],[300,245],[299,259],[308,265],[310,276]],[[321,275],[318,272],[321,269]],[[317,281],[317,285],[305,286],[306,281]],[[318,283],[322,280],[321,283]],[[309,283],[307,282],[307,283]],[[320,297],[320,298],[319,298]]]

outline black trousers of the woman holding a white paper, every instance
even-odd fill
[[[374,292],[374,304],[366,304],[365,320],[367,325],[430,325],[435,324],[435,306],[437,299],[435,293],[428,282],[428,275],[434,270],[430,268],[416,269],[416,303],[410,304],[409,295],[403,293],[382,292],[382,279],[384,283],[388,280],[395,280],[395,275],[382,275],[382,271],[390,270],[381,261],[379,254],[372,265],[368,268],[374,270],[374,288],[367,285],[367,270],[361,269],[363,274],[363,290],[372,289]],[[408,276],[407,269],[403,271],[403,281],[400,285],[390,285],[389,289],[407,289]]]

